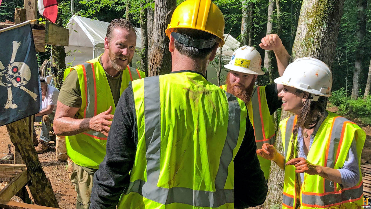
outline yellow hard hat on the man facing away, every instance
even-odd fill
[[[202,30],[221,39],[219,45],[224,45],[224,17],[218,6],[211,0],[186,0],[175,8],[170,24],[165,30],[170,38],[171,32],[177,28]]]

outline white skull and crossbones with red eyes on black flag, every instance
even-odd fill
[[[17,108],[17,104],[13,103],[12,88],[19,88],[28,93],[33,100],[36,101],[37,94],[26,89],[26,85],[31,78],[31,70],[28,65],[24,62],[14,62],[16,54],[21,42],[13,41],[13,53],[10,59],[9,65],[4,67],[0,61],[0,86],[8,88],[8,99],[4,105],[5,109]]]

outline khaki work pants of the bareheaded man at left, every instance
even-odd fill
[[[70,180],[75,185],[75,191],[77,192],[76,209],[89,209],[93,176],[96,170],[81,167],[75,163],[72,163],[72,168]]]

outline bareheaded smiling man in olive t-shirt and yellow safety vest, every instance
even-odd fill
[[[106,154],[107,136],[122,92],[130,81],[145,77],[144,72],[129,67],[136,41],[132,23],[114,19],[107,28],[104,53],[65,70],[54,131],[66,136],[77,209],[89,208],[93,176]]]

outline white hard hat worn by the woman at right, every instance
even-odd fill
[[[303,57],[289,64],[283,75],[275,79],[275,83],[314,94],[312,100],[318,101],[319,96],[331,96],[332,73],[325,62]]]

